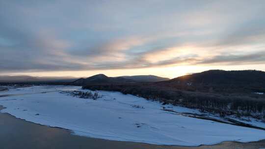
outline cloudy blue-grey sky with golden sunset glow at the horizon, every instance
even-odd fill
[[[0,75],[265,71],[265,0],[0,0]]]

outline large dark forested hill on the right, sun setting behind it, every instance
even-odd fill
[[[156,83],[180,90],[200,92],[265,92],[265,72],[210,70]]]

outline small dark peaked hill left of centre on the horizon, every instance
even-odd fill
[[[124,77],[108,77],[103,74],[93,75],[87,78],[79,78],[72,82],[72,85],[85,85],[85,84],[98,84],[98,83],[125,83],[134,82],[131,79],[126,79]]]

